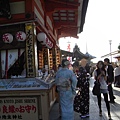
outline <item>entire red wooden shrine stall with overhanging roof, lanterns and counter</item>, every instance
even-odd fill
[[[61,63],[58,40],[82,32],[85,1],[0,1],[0,120],[49,120]]]

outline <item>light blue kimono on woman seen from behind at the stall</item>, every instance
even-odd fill
[[[70,87],[61,86],[60,80],[70,81]],[[76,95],[77,78],[73,71],[68,68],[62,68],[56,74],[55,83],[59,92],[59,101],[61,106],[61,120],[74,120],[73,102]]]

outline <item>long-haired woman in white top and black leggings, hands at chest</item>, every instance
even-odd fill
[[[98,61],[97,68],[94,71],[94,79],[100,82],[100,94],[97,95],[99,115],[100,116],[102,115],[102,109],[101,109],[101,93],[102,93],[104,96],[104,101],[106,103],[108,117],[109,120],[111,120],[110,104],[108,102],[107,72],[105,70],[105,65],[103,61]]]

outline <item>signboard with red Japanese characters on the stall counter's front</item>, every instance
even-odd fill
[[[37,98],[0,98],[0,120],[38,120]]]

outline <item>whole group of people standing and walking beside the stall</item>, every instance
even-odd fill
[[[110,103],[114,104],[116,99],[112,84],[120,87],[120,64],[113,66],[108,58],[98,61],[94,66],[89,66],[86,59],[76,61],[73,65],[67,59],[62,60],[55,77],[61,120],[74,120],[74,111],[78,112],[81,118],[89,117],[90,77],[100,83],[100,93],[97,95],[99,115],[102,116],[101,94],[103,94],[108,118],[112,120]]]

